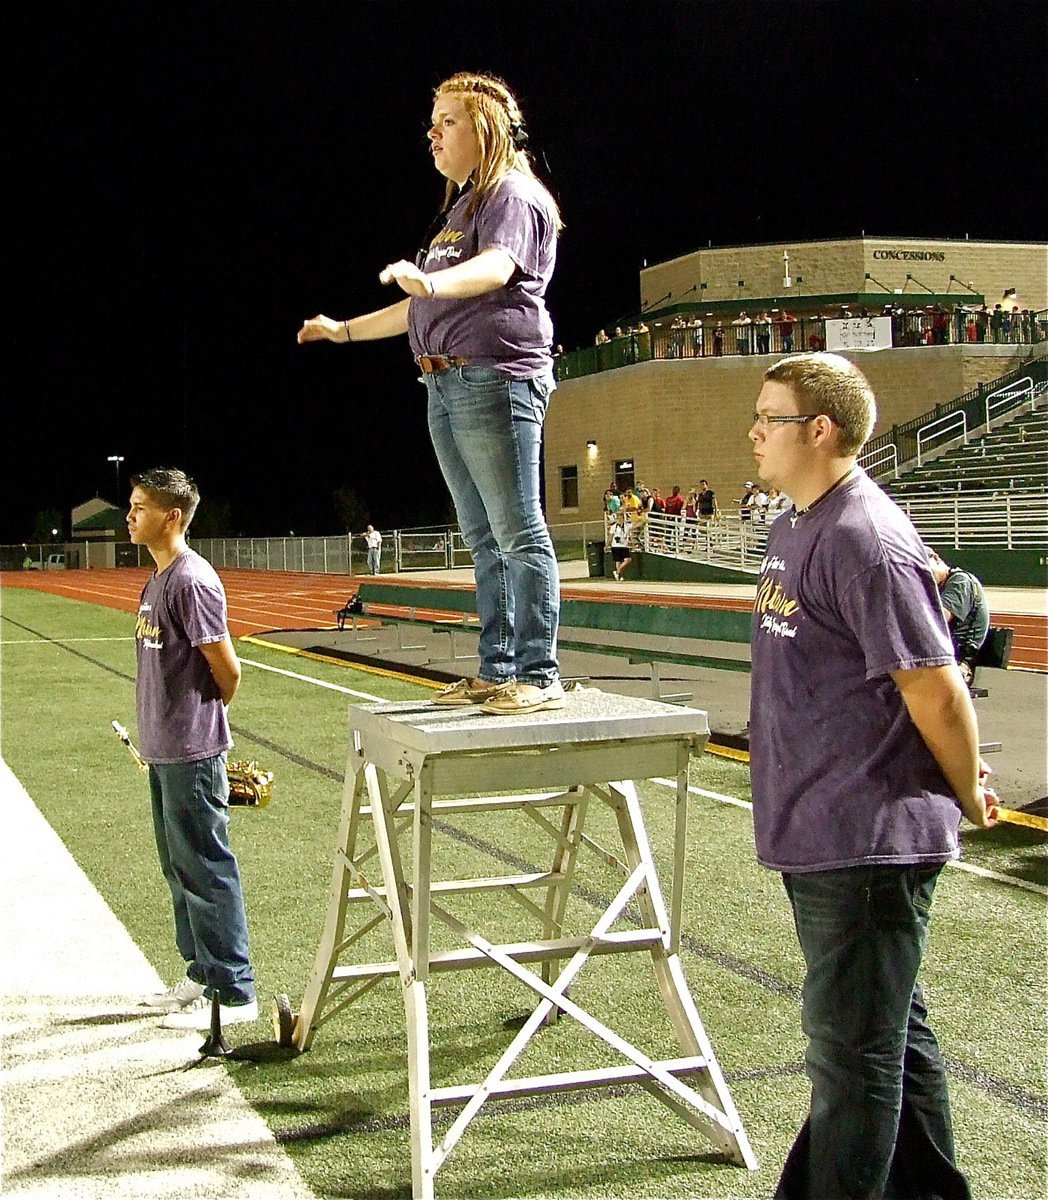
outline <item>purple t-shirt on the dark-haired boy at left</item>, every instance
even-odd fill
[[[194,550],[142,589],[134,641],[139,752],[146,762],[197,762],[229,750],[229,721],[208,660],[197,649],[228,637],[226,593]]]

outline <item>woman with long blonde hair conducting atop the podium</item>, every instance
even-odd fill
[[[321,314],[298,335],[359,342],[408,334],[430,436],[473,556],[480,620],[477,678],[435,703],[509,715],[564,704],[557,559],[539,502],[543,421],[556,386],[545,294],[561,217],[527,142],[501,79],[445,79],[429,132],[444,205],[415,262],[379,275],[407,299],[349,320]]]

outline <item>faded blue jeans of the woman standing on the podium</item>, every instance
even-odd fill
[[[473,556],[478,676],[545,686],[559,673],[557,557],[539,503],[553,377],[510,379],[493,367],[465,366],[424,380],[430,437]]]

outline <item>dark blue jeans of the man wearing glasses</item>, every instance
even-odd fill
[[[777,1196],[968,1200],[917,971],[933,866],[784,875],[807,964],[812,1110]]]

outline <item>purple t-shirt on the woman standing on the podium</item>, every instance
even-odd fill
[[[484,250],[503,250],[516,263],[509,283],[469,300],[413,298],[408,310],[412,354],[449,354],[531,379],[552,365],[553,325],[546,287],[557,259],[557,229],[546,190],[510,172],[472,217],[472,190],[451,205],[430,242],[423,270],[443,271]]]

